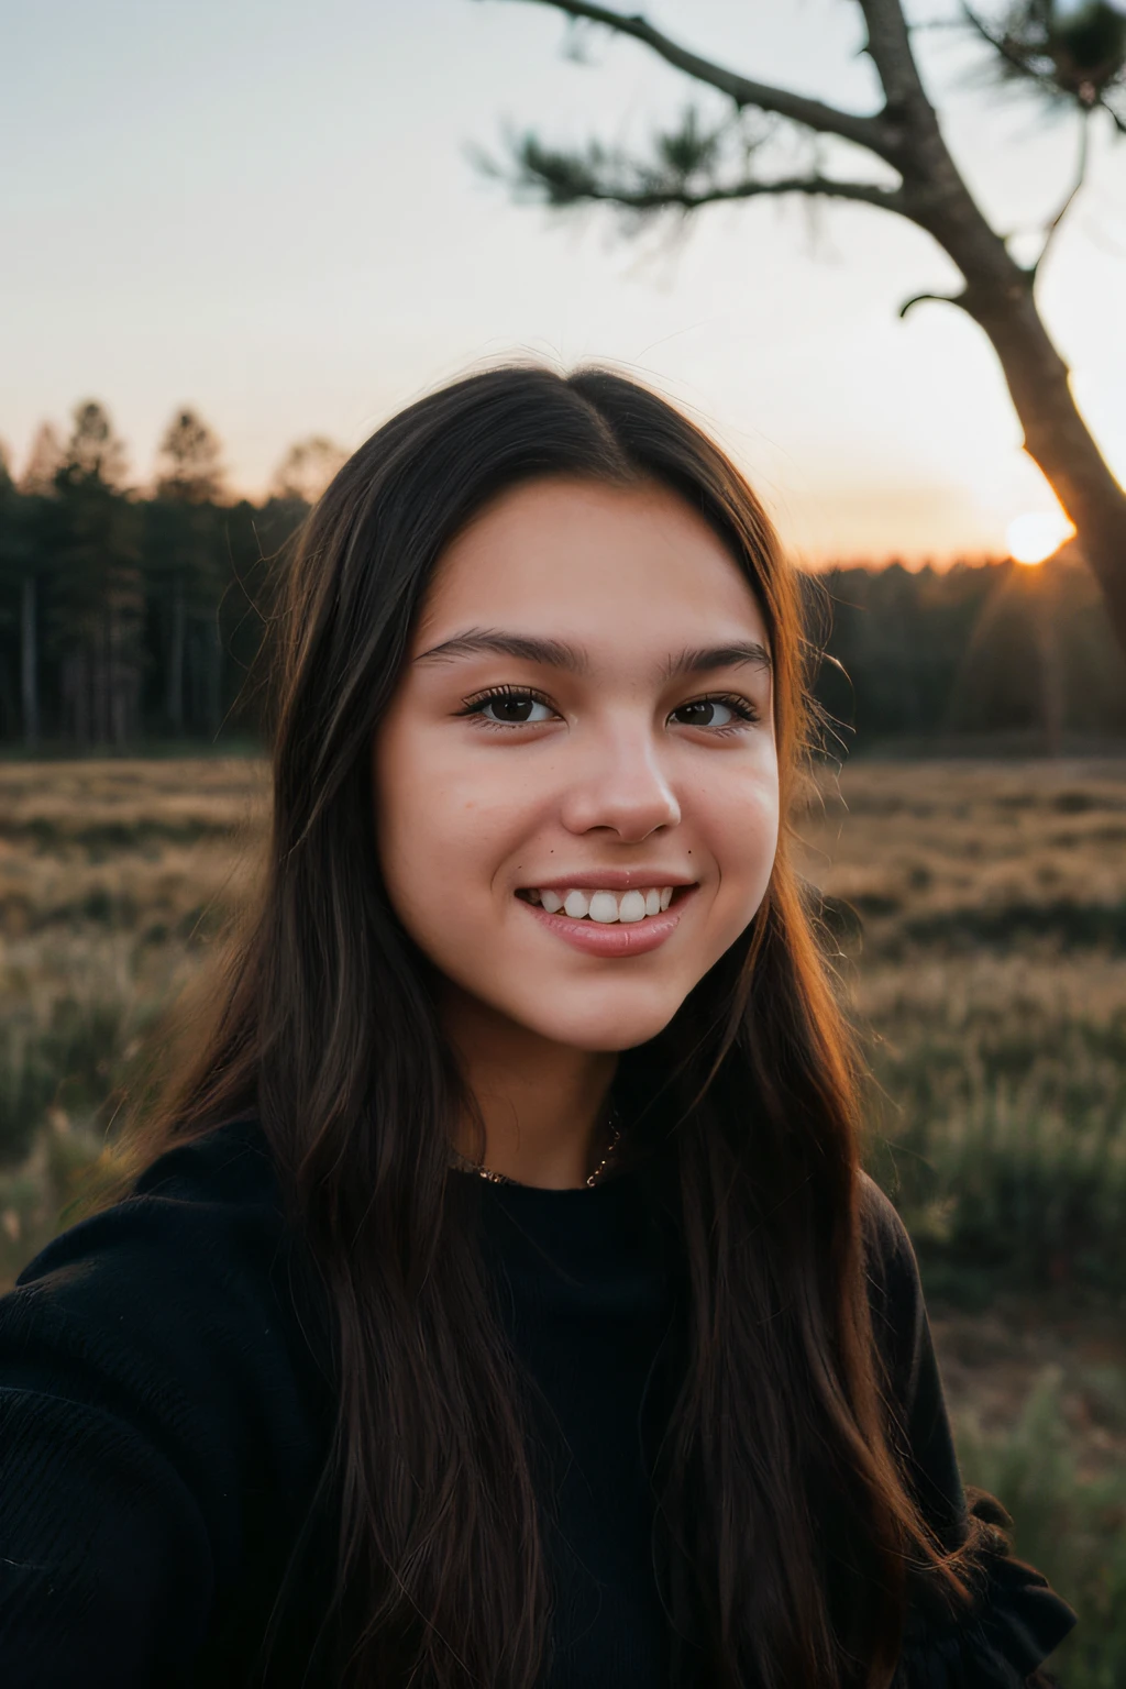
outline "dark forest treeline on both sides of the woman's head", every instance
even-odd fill
[[[338,461],[302,441],[265,502],[233,502],[218,439],[182,410],[142,495],[95,402],[66,441],[41,429],[19,480],[0,459],[0,741],[253,741],[287,540]],[[849,748],[1126,736],[1126,671],[1067,552],[1037,569],[849,566],[805,586],[817,696]]]

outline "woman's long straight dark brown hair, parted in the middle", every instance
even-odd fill
[[[766,618],[783,807],[804,733],[797,586],[717,446],[604,370],[419,400],[309,515],[277,618],[268,872],[155,1154],[258,1111],[334,1311],[348,1682],[532,1689],[549,1589],[520,1412],[449,1130],[466,1105],[373,843],[371,741],[437,559],[537,476],[657,481]],[[633,1052],[635,1062],[638,1052]],[[891,1453],[864,1277],[849,1040],[783,836],[766,899],[641,1064],[663,1096],[685,1365],[655,1483],[679,1684],[886,1686],[907,1567],[957,1588]],[[846,1599],[831,1599],[832,1588]]]

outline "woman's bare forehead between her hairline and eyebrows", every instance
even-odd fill
[[[753,637],[755,593],[707,522],[655,483],[530,481],[503,493],[439,559],[419,645],[469,623],[601,642]]]

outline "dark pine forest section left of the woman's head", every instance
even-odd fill
[[[233,502],[218,437],[181,410],[140,495],[93,400],[68,439],[41,427],[19,481],[0,458],[0,741],[253,736],[282,551],[339,461],[300,441],[265,502]]]

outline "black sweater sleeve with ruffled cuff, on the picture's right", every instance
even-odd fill
[[[885,1360],[898,1454],[920,1510],[950,1547],[969,1544],[971,1601],[950,1611],[917,1591],[893,1689],[1023,1689],[1075,1625],[1047,1579],[1011,1557],[1003,1507],[966,1488],[903,1221],[866,1181],[873,1324]]]

